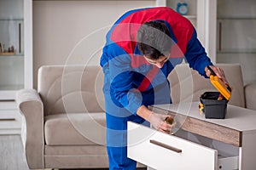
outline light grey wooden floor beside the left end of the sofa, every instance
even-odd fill
[[[146,170],[146,169],[147,168],[137,168],[137,170]],[[29,167],[27,166],[27,163],[26,163],[26,156],[23,150],[23,146],[21,144],[21,139],[19,134],[0,135],[0,170],[29,170]],[[47,170],[50,170],[50,169],[47,169]],[[86,170],[90,170],[90,169],[86,169]],[[108,170],[108,169],[94,169],[94,170]]]

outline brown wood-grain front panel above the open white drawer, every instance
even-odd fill
[[[154,106],[153,106],[154,107]],[[149,106],[148,109],[153,110],[152,106]],[[160,114],[166,114],[170,116],[176,116],[177,113],[172,111],[166,111],[154,107],[154,112]],[[226,144],[233,144],[235,146],[241,147],[241,132],[236,129],[231,129],[230,127],[224,127],[212,122],[205,122],[194,117],[183,116],[179,114],[181,120],[185,120],[180,126],[181,129],[190,132],[196,133],[201,136],[207,137],[209,139],[215,139]]]

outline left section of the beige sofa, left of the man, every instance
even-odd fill
[[[38,90],[21,89],[21,139],[31,169],[108,167],[99,66],[42,66]]]

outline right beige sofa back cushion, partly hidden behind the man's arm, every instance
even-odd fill
[[[233,88],[230,105],[245,107],[241,65],[218,64]],[[177,65],[168,77],[171,86],[172,103],[199,101],[201,94],[217,91],[208,78],[201,77],[188,64]]]

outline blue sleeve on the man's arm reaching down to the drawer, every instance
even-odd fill
[[[124,107],[131,114],[136,115],[143,99],[141,93],[133,89],[134,71],[131,68],[131,56],[113,42],[105,47],[102,58],[108,58],[109,72],[105,77],[109,80],[108,88],[112,99],[108,102]]]

